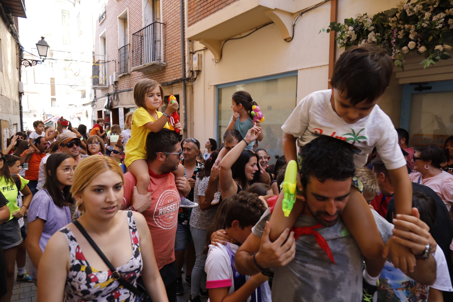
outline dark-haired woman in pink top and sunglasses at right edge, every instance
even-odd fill
[[[428,145],[416,150],[412,159],[414,170],[410,173],[411,182],[417,182],[434,190],[447,206],[453,220],[453,175],[440,168],[447,161],[443,150],[437,145]]]

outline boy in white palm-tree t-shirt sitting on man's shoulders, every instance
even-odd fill
[[[368,153],[376,147],[389,170],[392,182],[395,182],[396,212],[410,215],[412,187],[407,177],[406,161],[398,145],[394,125],[377,105],[389,86],[393,66],[384,48],[366,44],[346,50],[335,62],[332,79],[328,81],[332,89],[313,92],[299,102],[282,126],[282,144],[286,161],[296,160],[300,163],[296,142],[300,153],[305,144],[319,135],[342,139],[352,144],[356,152],[356,168],[366,164]],[[303,174],[303,167],[299,166],[299,169]],[[297,188],[303,191],[299,173]],[[384,264],[383,243],[369,207],[361,196],[361,183],[353,182],[352,188],[341,217],[366,258],[365,279],[376,288]],[[298,200],[294,203],[289,218],[286,218],[282,200],[283,196],[280,194],[270,220],[271,240],[276,240],[286,228],[291,228],[304,209],[304,202]],[[324,216],[328,221],[334,221],[338,215],[326,213]],[[395,242],[390,247],[393,259],[401,259],[400,263],[394,261],[395,266],[403,271],[407,267],[411,270],[415,258],[410,250]]]

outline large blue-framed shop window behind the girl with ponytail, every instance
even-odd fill
[[[253,100],[258,103],[265,120],[261,123],[263,141],[258,148],[266,149],[271,157],[269,164],[275,163],[275,155],[283,155],[281,126],[296,106],[297,75],[257,79],[244,84],[233,83],[231,86],[220,85],[218,88],[218,129],[217,140],[223,143],[223,134],[230,122],[233,110],[231,96],[236,91],[249,92]]]

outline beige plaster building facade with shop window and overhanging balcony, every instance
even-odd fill
[[[299,17],[293,34],[294,19],[318,2],[188,0],[186,38],[194,41],[192,52],[200,54],[197,59],[201,61],[197,65],[201,71],[193,83],[193,108],[197,116],[193,127],[197,139],[221,141],[232,115],[231,95],[246,90],[265,116],[261,124],[265,139],[259,147],[268,149],[269,155],[283,155],[281,125],[305,96],[328,89],[329,67],[333,66],[333,58],[344,51],[336,45],[333,48],[330,35],[318,34],[319,30],[326,28],[331,20],[342,22],[357,13],[373,15],[388,10],[396,7],[399,0],[325,1]],[[423,69],[419,64],[422,59],[408,57],[404,72],[395,67],[379,105],[395,127],[409,130],[411,139],[415,134],[422,134],[428,137],[425,141],[429,137],[432,141],[436,133],[443,131],[434,129],[441,124],[436,119],[443,120],[446,127],[451,124],[453,130],[453,119],[450,120],[453,107],[447,107],[449,111],[440,109],[452,106],[453,85],[450,91],[448,86],[453,83],[453,60]],[[422,87],[432,88],[431,91],[413,90],[418,85],[410,83],[428,83]],[[450,134],[443,132],[443,135]]]

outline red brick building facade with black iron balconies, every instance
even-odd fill
[[[179,111],[183,120],[179,1],[120,0],[104,3],[100,0],[98,10],[99,18],[94,20],[92,92],[95,98],[92,119],[104,117],[106,122],[109,120],[109,113],[104,109],[108,96],[111,98],[110,125],[122,126],[122,117],[136,108],[132,91],[135,83],[150,78],[164,86],[165,96],[173,94],[178,101],[181,99]],[[189,68],[186,70],[189,76]],[[114,74],[118,81],[116,85]],[[190,127],[193,124],[192,95],[192,86],[188,83],[186,127],[189,134],[193,131]]]

